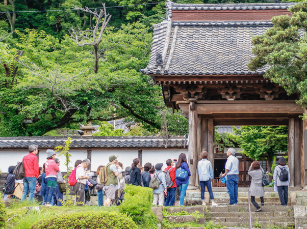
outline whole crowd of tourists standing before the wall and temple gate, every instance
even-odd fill
[[[56,158],[55,151],[47,150],[47,160],[42,167],[39,167],[37,153],[38,147],[31,145],[29,154],[23,157],[22,163],[9,167],[4,198],[20,198],[25,201],[28,197],[29,201],[35,198],[42,205],[62,206],[63,193],[67,191],[67,185],[60,171],[60,160]],[[226,177],[227,192],[229,193],[228,205],[237,205],[238,203],[239,160],[235,157],[235,153],[234,148],[228,149],[225,173],[221,175],[221,179]],[[211,179],[214,177],[212,163],[208,160],[208,152],[202,151],[200,157],[197,169],[202,204],[206,205],[204,192],[207,187],[212,206],[217,206],[214,202],[211,186]],[[136,158],[131,166],[127,166],[123,170],[123,164],[117,158],[118,156],[111,155],[107,165],[98,166],[96,180],[92,179],[95,174],[87,170],[91,164],[89,159],[75,162],[74,169],[68,177],[68,187],[71,187],[76,196],[75,205],[83,206],[89,202],[90,192],[94,191],[98,196],[98,206],[120,205],[124,201],[126,184],[152,188],[153,205],[173,206],[175,201],[178,202],[178,205],[184,205],[191,176],[184,153],[181,153],[178,159],[166,160],[165,169],[163,169],[163,163],[152,165],[148,162],[142,167],[140,160]],[[261,198],[261,205],[265,203],[263,197],[264,170],[259,161],[252,162],[248,175],[252,178],[249,190],[251,202],[257,208],[257,212],[260,212],[262,209],[255,202],[255,197]],[[290,173],[285,158],[279,159],[273,179],[281,204],[287,205]]]

